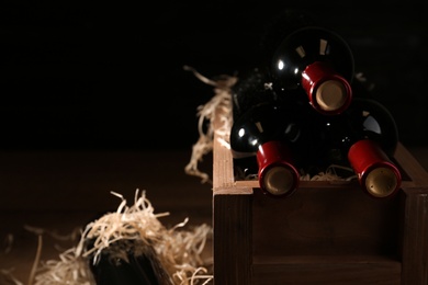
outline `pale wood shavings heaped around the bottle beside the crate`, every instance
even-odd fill
[[[162,266],[172,276],[172,284],[207,284],[213,278],[209,274],[212,259],[203,260],[202,251],[212,236],[212,228],[202,224],[184,229],[189,218],[172,228],[165,227],[158,218],[169,213],[155,214],[145,193],[136,190],[134,204],[128,206],[121,194],[112,192],[122,200],[116,212],[89,223],[81,231],[77,246],[60,253],[59,260],[40,261],[42,236],[53,231],[26,226],[38,237],[27,285],[95,285],[89,263],[97,262],[103,250],[113,250],[111,246],[119,240],[137,240],[135,244],[150,243]],[[87,248],[89,239],[94,240],[91,248]],[[138,248],[135,250],[137,252]],[[11,271],[2,270],[0,273],[0,280],[8,280],[5,284],[23,285],[13,278]]]

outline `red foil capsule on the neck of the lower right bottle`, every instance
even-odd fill
[[[402,183],[399,170],[373,140],[362,139],[353,144],[348,160],[360,185],[371,196],[391,197],[398,192]]]

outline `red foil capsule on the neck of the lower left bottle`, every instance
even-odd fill
[[[257,152],[259,184],[263,193],[288,197],[299,186],[300,173],[293,166],[289,147],[272,140],[262,144]]]

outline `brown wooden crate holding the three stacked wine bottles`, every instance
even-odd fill
[[[428,174],[398,144],[403,182],[374,200],[357,182],[302,181],[285,200],[235,181],[213,147],[215,285],[428,284]]]

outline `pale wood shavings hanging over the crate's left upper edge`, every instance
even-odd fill
[[[221,144],[225,147],[228,145],[228,136],[232,128],[232,95],[230,88],[237,82],[238,78],[235,76],[221,76],[216,80],[209,79],[199,73],[194,68],[184,66],[184,70],[193,72],[193,75],[202,82],[214,87],[214,96],[204,105],[198,107],[199,116],[199,139],[193,145],[192,155],[189,163],[184,168],[184,172],[190,175],[201,178],[201,183],[211,183],[210,174],[202,172],[199,169],[199,162],[203,160],[203,157],[213,150],[214,132],[218,135]],[[215,119],[216,111],[224,110],[224,115],[219,118],[221,127],[214,130],[213,123]],[[203,123],[209,122],[206,132],[203,132]]]

